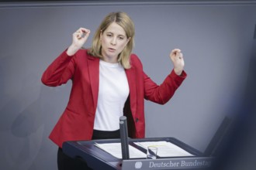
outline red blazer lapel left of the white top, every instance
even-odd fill
[[[93,103],[96,109],[99,94],[99,58],[88,57],[88,73],[91,81]]]

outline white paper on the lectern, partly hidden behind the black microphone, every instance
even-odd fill
[[[95,143],[95,146],[101,148],[102,150],[108,152],[109,154],[113,155],[116,158],[122,158],[122,149],[121,143],[105,143],[105,144],[98,144]],[[146,158],[147,155],[144,152],[134,148],[133,146],[129,145],[129,156],[130,158]]]

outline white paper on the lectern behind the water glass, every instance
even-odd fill
[[[154,146],[157,148],[157,156],[159,157],[183,157],[183,156],[194,156],[188,151],[172,144],[168,141],[144,141],[134,142],[134,144],[147,149],[148,146]]]

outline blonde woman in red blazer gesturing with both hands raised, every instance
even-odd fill
[[[134,25],[124,12],[106,15],[92,47],[81,49],[89,35],[85,28],[74,32],[71,46],[42,76],[42,82],[50,87],[72,80],[67,107],[50,134],[59,146],[59,169],[84,165],[64,155],[64,141],[119,138],[120,116],[127,117],[130,138],[144,138],[144,99],[165,104],[186,77],[181,50],[173,49],[174,69],[160,86],[150,80],[140,59],[132,54]]]

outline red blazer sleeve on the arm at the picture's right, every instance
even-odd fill
[[[157,104],[166,104],[180,87],[187,74],[182,71],[178,76],[174,70],[164,79],[161,85],[157,85],[144,73],[144,98]]]

